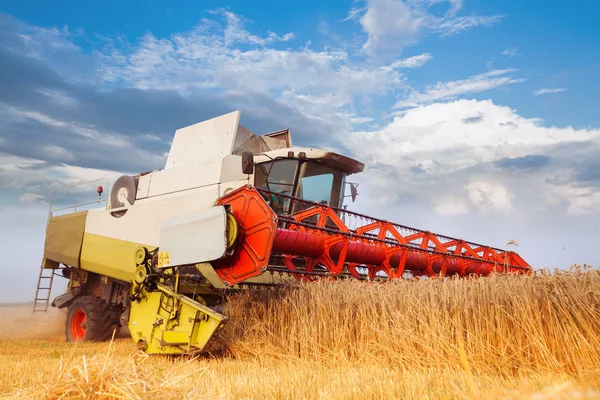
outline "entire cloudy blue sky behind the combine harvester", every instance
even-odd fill
[[[599,12],[0,0],[0,301],[33,299],[55,189],[162,168],[176,129],[234,110],[363,161],[352,210],[598,267]]]

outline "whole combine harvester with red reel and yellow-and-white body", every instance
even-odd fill
[[[68,307],[67,341],[126,325],[149,354],[191,354],[226,323],[222,293],[242,286],[531,272],[514,252],[348,211],[357,190],[346,177],[362,163],[293,147],[289,130],[257,136],[239,119],[177,130],[165,168],[121,176],[105,207],[51,206],[34,312],[63,276],[52,306]]]

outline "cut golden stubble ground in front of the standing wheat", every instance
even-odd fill
[[[127,332],[112,342],[65,343],[64,313],[55,309],[33,315],[29,306],[2,307],[0,317],[1,398],[600,398],[597,378],[560,372],[501,377],[472,371],[467,358],[462,366],[444,362],[441,354],[440,365],[432,368],[411,368],[410,363],[390,359],[380,362],[376,357],[333,362],[285,352],[274,357],[260,343],[255,353],[246,351],[238,358],[147,356],[135,349]],[[290,326],[298,332],[296,325]],[[264,356],[252,355],[261,350]],[[395,354],[402,355],[399,350]]]

